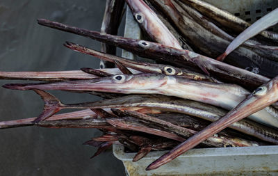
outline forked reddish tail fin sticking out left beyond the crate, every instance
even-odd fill
[[[47,93],[47,92],[45,92],[43,90],[39,90],[39,89],[32,89],[32,90],[35,91],[35,93],[37,93],[38,95],[40,95],[40,97],[44,101],[44,110],[38,116],[38,118],[36,118],[33,121],[33,123],[37,123],[37,122],[40,122],[41,120],[50,118],[52,115],[54,115],[55,113],[60,111],[63,104],[60,102],[59,99],[54,97],[54,95],[51,95],[50,93]]]

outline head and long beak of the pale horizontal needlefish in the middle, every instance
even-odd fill
[[[165,84],[167,79],[163,74],[116,74],[113,77],[81,80],[63,81],[56,83],[28,83],[28,84],[6,84],[3,88],[15,90],[79,90],[97,91],[107,93],[156,93],[154,90]]]

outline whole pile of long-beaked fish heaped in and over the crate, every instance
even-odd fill
[[[147,40],[117,36],[125,2]],[[0,72],[1,79],[44,81],[3,86],[35,91],[44,109],[38,118],[0,122],[0,129],[97,128],[103,135],[85,142],[99,147],[93,157],[113,144],[137,152],[133,161],[152,150],[170,150],[147,170],[193,147],[277,145],[278,34],[264,31],[277,22],[278,9],[250,25],[199,0],[107,0],[100,32],[38,19],[40,25],[102,42],[101,51],[65,42],[101,58],[101,69]],[[155,62],[121,58],[116,47]],[[45,90],[103,99],[63,104]],[[83,110],[55,115],[62,109]]]

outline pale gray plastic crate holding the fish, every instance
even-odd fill
[[[273,0],[206,0],[242,19],[254,22],[257,17],[278,7]],[[229,3],[228,3],[229,2]],[[276,27],[274,29],[276,30]],[[127,8],[124,36],[141,38],[138,24]],[[123,51],[125,58],[136,59]],[[113,145],[113,153],[124,163],[126,175],[278,175],[278,146],[225,147],[193,149],[156,170],[145,168],[166,151],[150,152],[140,161],[133,162],[136,153],[124,152],[124,147]]]

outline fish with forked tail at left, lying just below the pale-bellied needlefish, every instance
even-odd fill
[[[193,115],[197,118],[202,118],[211,122],[215,122],[227,113],[223,109],[219,109],[215,106],[203,104],[201,102],[195,102],[189,99],[179,99],[176,97],[168,97],[164,95],[127,95],[124,97],[116,97],[112,99],[103,99],[97,102],[85,102],[79,104],[63,104],[54,95],[44,92],[43,90],[35,90],[38,95],[44,100],[44,106],[51,106],[59,111],[62,109],[109,109],[117,108],[122,110],[133,110],[144,113],[162,113],[162,112],[174,112],[183,113],[187,115]],[[141,108],[141,109],[140,109]],[[49,109],[49,108],[46,108]],[[43,112],[44,113],[44,112]],[[88,112],[89,113],[89,112]],[[83,114],[83,113],[82,113]],[[65,117],[67,114],[65,114]],[[76,114],[76,117],[80,116]],[[90,115],[88,115],[90,116]],[[49,117],[48,119],[51,119]],[[35,119],[33,119],[35,120]],[[33,121],[32,120],[32,121]],[[26,120],[22,120],[26,122]],[[28,121],[29,122],[29,121]],[[30,121],[31,122],[31,121]],[[4,124],[4,122],[3,122]],[[13,125],[14,124],[14,125]],[[7,122],[6,127],[11,125],[20,126],[19,122]],[[31,123],[29,123],[31,124]],[[278,131],[269,127],[265,127],[259,123],[245,119],[235,122],[229,126],[231,129],[235,129],[244,134],[260,138],[263,141],[278,144]],[[1,129],[1,122],[0,122]]]

